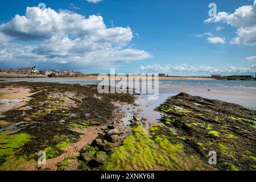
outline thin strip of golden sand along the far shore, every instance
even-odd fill
[[[0,78],[50,78],[53,80],[97,80],[97,76],[82,76],[82,77],[46,77],[46,76],[17,76],[17,77],[1,77]],[[102,77],[101,77],[102,78]],[[138,77],[134,77],[135,79]],[[216,80],[215,78],[206,77],[159,77],[159,80]]]

